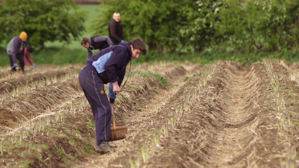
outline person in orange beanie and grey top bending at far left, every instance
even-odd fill
[[[11,71],[17,71],[17,60],[20,63],[22,73],[24,73],[24,50],[27,42],[27,33],[21,32],[20,35],[13,37],[7,47],[6,52],[9,57]]]

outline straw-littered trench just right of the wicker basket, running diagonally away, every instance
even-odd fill
[[[137,150],[133,150],[133,148],[136,145],[139,146],[142,144],[135,142],[145,140],[140,139],[140,135],[138,136],[138,134],[144,134],[152,128],[152,117],[157,116],[157,113],[167,104],[168,99],[176,94],[184,84],[182,79],[193,73],[199,73],[202,69],[201,66],[195,64],[184,64],[183,66],[169,67],[168,70],[164,70],[165,72],[162,75],[168,80],[171,86],[168,86],[167,89],[160,88],[155,90],[158,94],[156,93],[154,97],[148,97],[146,103],[138,111],[131,111],[131,113],[134,113],[134,116],[127,121],[129,125],[127,140],[112,143],[118,147],[117,150],[100,157],[91,156],[87,158],[89,162],[80,162],[76,167],[98,167],[98,165],[101,165],[101,167],[127,167],[127,163],[129,162],[127,157],[130,157],[127,153],[139,153],[140,147],[137,147]],[[163,119],[163,121],[165,120]],[[146,144],[147,141],[144,141],[144,143]]]

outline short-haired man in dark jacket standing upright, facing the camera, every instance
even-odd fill
[[[119,43],[123,43],[123,26],[120,24],[120,13],[113,13],[113,21],[109,24],[109,37],[114,43],[117,45]]]

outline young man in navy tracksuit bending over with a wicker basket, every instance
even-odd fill
[[[116,147],[108,144],[111,127],[111,106],[104,84],[113,83],[113,91],[121,92],[120,85],[130,60],[146,54],[141,38],[133,39],[101,50],[86,62],[79,73],[79,83],[93,111],[96,127],[97,152],[108,152]]]

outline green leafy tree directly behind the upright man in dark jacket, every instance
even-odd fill
[[[172,1],[104,0],[103,4],[106,10],[95,20],[95,33],[108,35],[113,12],[120,12],[125,40],[140,36],[152,49],[175,43],[177,5]]]

